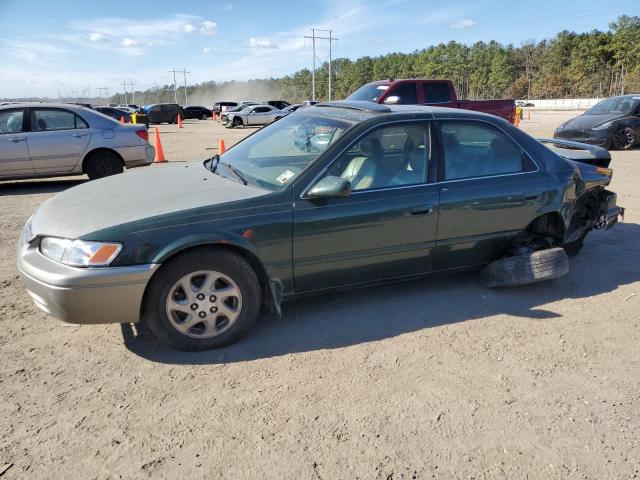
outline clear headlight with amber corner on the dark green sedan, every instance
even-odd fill
[[[86,242],[66,238],[45,237],[40,253],[56,262],[72,267],[104,267],[122,250],[120,243]]]

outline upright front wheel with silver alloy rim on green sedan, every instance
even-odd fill
[[[237,341],[260,311],[260,282],[241,256],[197,249],[163,265],[145,295],[142,320],[179,350],[223,347]]]

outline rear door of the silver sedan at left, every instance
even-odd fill
[[[29,156],[36,173],[71,173],[91,140],[86,121],[71,110],[29,109]]]

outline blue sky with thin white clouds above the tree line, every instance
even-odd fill
[[[334,58],[357,58],[450,40],[519,45],[622,14],[640,15],[640,0],[0,0],[0,97],[145,89],[171,83],[172,67],[189,83],[281,76],[311,66],[312,27],[334,30]]]

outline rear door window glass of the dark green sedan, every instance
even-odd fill
[[[518,145],[479,122],[443,122],[444,179],[486,177],[533,170]]]

